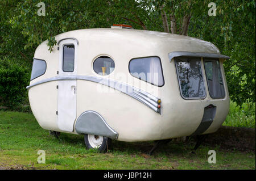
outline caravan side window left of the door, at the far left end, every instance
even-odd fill
[[[40,77],[45,72],[46,72],[46,61],[34,58],[30,80],[32,81],[32,79]]]

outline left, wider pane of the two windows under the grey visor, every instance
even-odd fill
[[[175,58],[181,96],[184,99],[205,98],[204,78],[200,58]]]

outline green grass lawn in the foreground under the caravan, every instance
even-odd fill
[[[31,113],[0,111],[0,169],[255,169],[255,153],[195,142],[170,142],[146,153],[154,142],[113,141],[108,153],[86,150],[84,137],[61,133],[59,139],[40,128]],[[38,150],[46,151],[46,163],[37,163]],[[216,151],[216,164],[208,163],[208,151]]]

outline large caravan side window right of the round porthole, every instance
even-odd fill
[[[159,57],[134,58],[129,62],[129,71],[134,77],[155,86],[163,86],[164,78]]]

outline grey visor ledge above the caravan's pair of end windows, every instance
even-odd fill
[[[168,54],[170,62],[175,57],[207,57],[207,58],[224,58],[230,59],[230,57],[225,56],[224,54],[217,53],[201,53],[201,52],[171,52]]]

